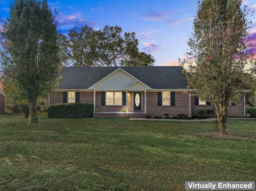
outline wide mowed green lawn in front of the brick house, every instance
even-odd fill
[[[0,114],[1,191],[182,191],[185,181],[255,181],[255,120],[49,119]]]

